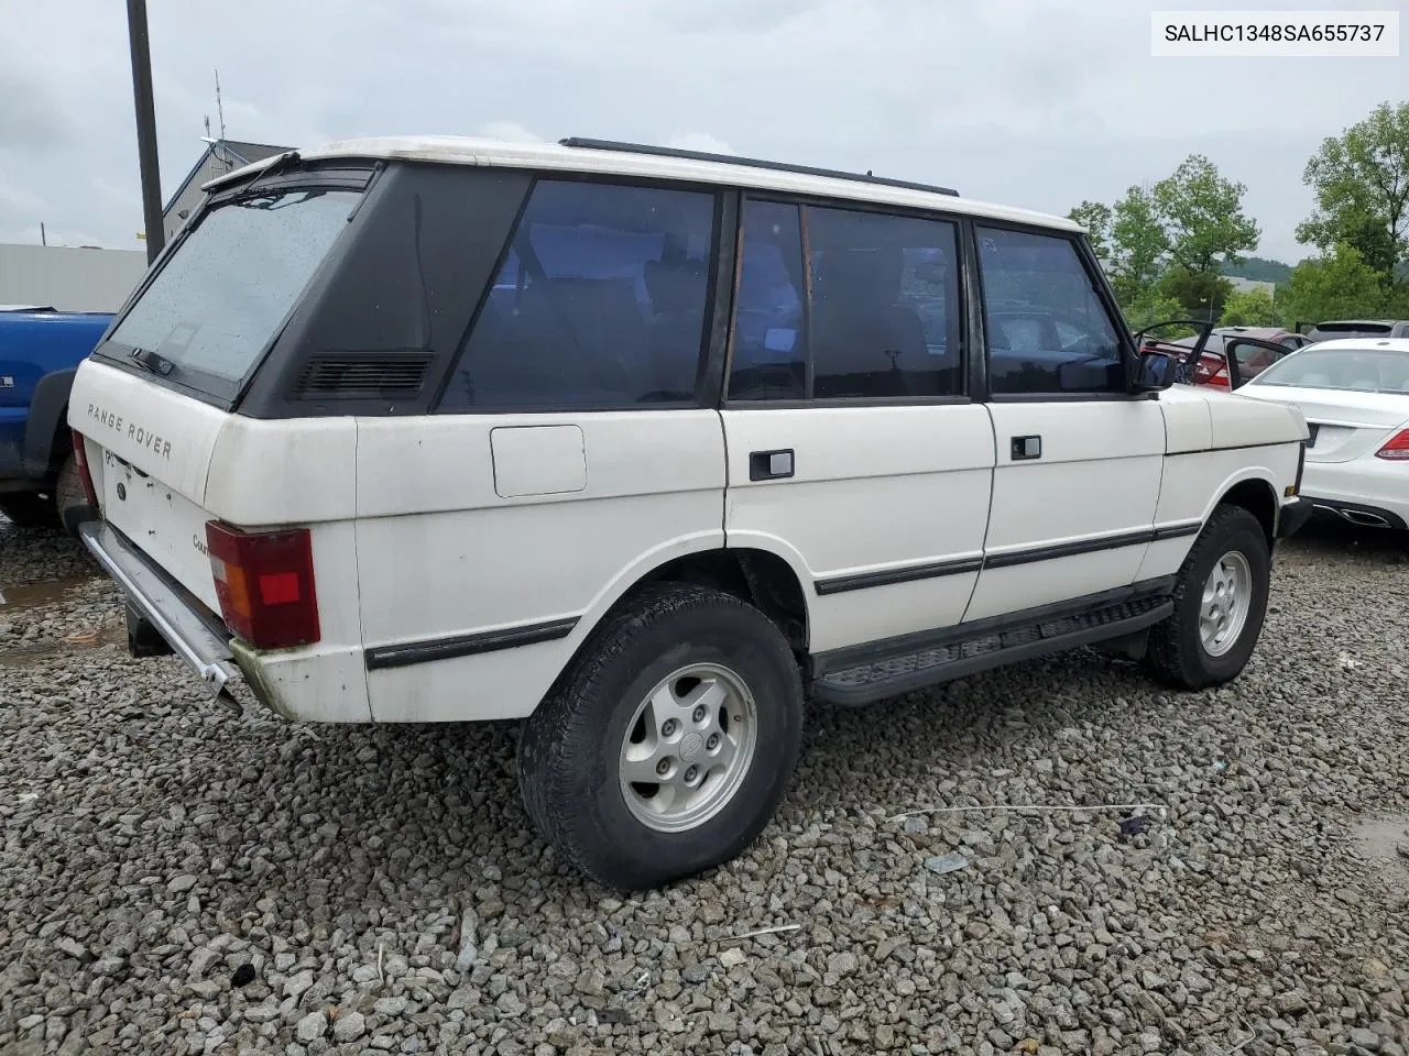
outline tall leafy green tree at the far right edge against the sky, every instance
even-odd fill
[[[1346,242],[1392,284],[1409,263],[1409,101],[1381,103],[1323,139],[1302,182],[1316,191],[1316,211],[1298,224],[1296,239],[1323,253]]]

